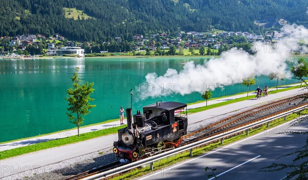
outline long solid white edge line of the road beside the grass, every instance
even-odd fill
[[[275,128],[279,128],[279,127],[281,127],[282,125],[291,123],[291,122],[293,122],[293,121],[295,121],[295,120],[296,120],[296,119],[291,120],[291,121],[287,121],[287,122],[285,122],[285,123],[283,123],[283,124],[277,125],[277,126],[271,128],[271,129],[269,129],[269,130],[266,130],[266,131],[270,131],[270,130],[273,130],[273,129],[275,129]],[[178,165],[175,165],[175,166],[171,166],[171,167],[166,168],[166,169],[164,169],[164,170],[160,170],[160,171],[158,171],[158,172],[156,172],[156,173],[153,173],[153,174],[151,174],[151,175],[148,175],[148,176],[145,176],[145,177],[143,177],[143,178],[140,178],[139,180],[143,180],[143,179],[146,179],[146,178],[151,177],[151,176],[153,176],[153,175],[157,175],[157,174],[160,174],[160,173],[162,173],[162,172],[168,171],[168,170],[170,170],[170,169],[176,168],[176,167],[178,167],[178,166],[182,166],[182,165],[184,165],[184,164],[186,164],[186,163],[189,163],[190,161],[199,159],[199,158],[204,157],[204,156],[207,156],[207,155],[209,155],[209,154],[216,153],[217,151],[220,151],[220,150],[223,150],[223,149],[225,149],[225,148],[231,147],[231,146],[233,146],[233,145],[236,145],[236,144],[238,144],[238,143],[241,143],[241,142],[243,142],[243,141],[246,141],[246,140],[248,140],[248,139],[254,138],[254,137],[259,136],[259,135],[262,135],[262,134],[264,134],[263,131],[260,132],[259,134],[256,134],[256,135],[253,135],[253,136],[251,136],[251,137],[247,137],[247,138],[245,138],[245,139],[243,139],[243,140],[234,142],[234,143],[232,143],[232,144],[230,144],[230,145],[228,145],[228,146],[222,147],[222,148],[220,148],[220,149],[218,149],[218,150],[211,151],[211,152],[209,152],[209,153],[203,154],[203,155],[198,156],[198,157],[196,157],[196,158],[193,158],[193,159],[184,161],[184,162],[181,163],[181,164],[178,164]]]

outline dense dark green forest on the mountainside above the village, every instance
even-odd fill
[[[76,41],[132,41],[134,34],[179,31],[251,31],[279,27],[274,23],[308,26],[306,7],[301,0],[1,0],[0,35],[32,33],[47,36],[60,33]],[[82,11],[90,18],[67,18],[65,10]],[[256,20],[267,22],[264,26]],[[274,21],[274,22],[273,22]]]

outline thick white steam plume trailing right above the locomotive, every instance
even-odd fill
[[[241,83],[245,78],[271,73],[290,77],[285,60],[292,51],[308,53],[307,47],[299,45],[299,42],[308,43],[308,30],[303,26],[285,25],[280,33],[283,38],[274,47],[259,42],[254,44],[255,55],[233,48],[223,52],[219,58],[211,58],[204,65],[190,61],[179,72],[169,68],[163,76],[149,73],[142,84],[145,88],[140,97],[165,96],[170,92],[181,95],[203,93],[206,89],[213,90],[217,84]],[[169,91],[162,92],[162,88]]]

